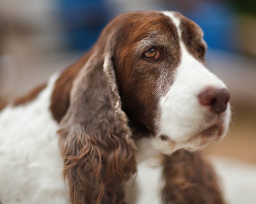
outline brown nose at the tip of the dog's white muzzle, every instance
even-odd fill
[[[209,106],[213,113],[222,113],[227,109],[230,94],[226,89],[207,88],[198,95],[199,102]]]

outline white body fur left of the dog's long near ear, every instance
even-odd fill
[[[49,105],[57,76],[35,100],[0,113],[0,201],[64,204],[63,162]]]

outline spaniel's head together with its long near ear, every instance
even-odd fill
[[[201,29],[180,13],[124,13],[62,73],[51,110],[74,203],[123,199],[122,181],[136,171],[132,128],[166,154],[224,137],[229,93],[205,68],[205,51]]]

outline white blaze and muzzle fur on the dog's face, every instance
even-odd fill
[[[218,116],[199,104],[197,95],[208,86],[220,89],[226,88],[226,86],[188,53],[181,40],[179,18],[175,17],[173,12],[164,11],[163,13],[172,18],[177,27],[180,38],[181,63],[176,69],[175,80],[168,93],[160,100],[160,128],[158,137],[153,138],[152,144],[161,152],[171,154],[180,148],[200,149],[215,141],[214,137],[202,139],[200,134],[217,122],[223,124],[224,131],[218,140],[222,139],[228,131],[230,108],[228,105],[225,113]],[[167,135],[174,142],[162,141],[160,135]]]

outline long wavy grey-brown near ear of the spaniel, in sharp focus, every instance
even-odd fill
[[[121,109],[110,39],[92,48],[60,122],[63,175],[73,204],[124,203],[123,182],[136,172],[136,147]]]

